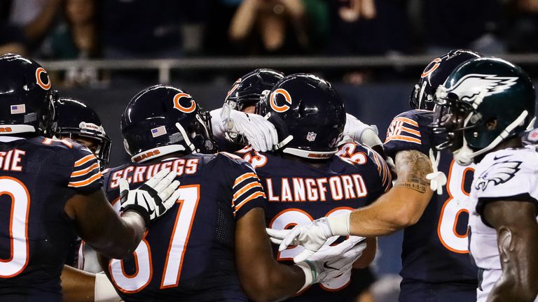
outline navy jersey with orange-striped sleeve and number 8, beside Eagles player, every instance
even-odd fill
[[[411,110],[394,117],[387,130],[385,152],[394,157],[402,150],[418,150],[427,156],[429,150],[444,141],[443,134],[433,134],[429,127],[433,112]],[[403,232],[403,285],[419,281],[452,283],[476,287],[476,267],[471,264],[467,224],[469,192],[473,166],[460,166],[448,150],[443,150],[439,171],[448,181],[443,194],[434,193],[418,222]]]

